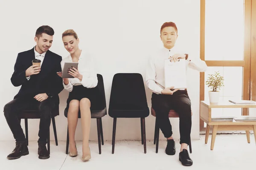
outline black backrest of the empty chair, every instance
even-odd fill
[[[139,73],[118,73],[113,77],[109,109],[148,108],[143,77]]]

